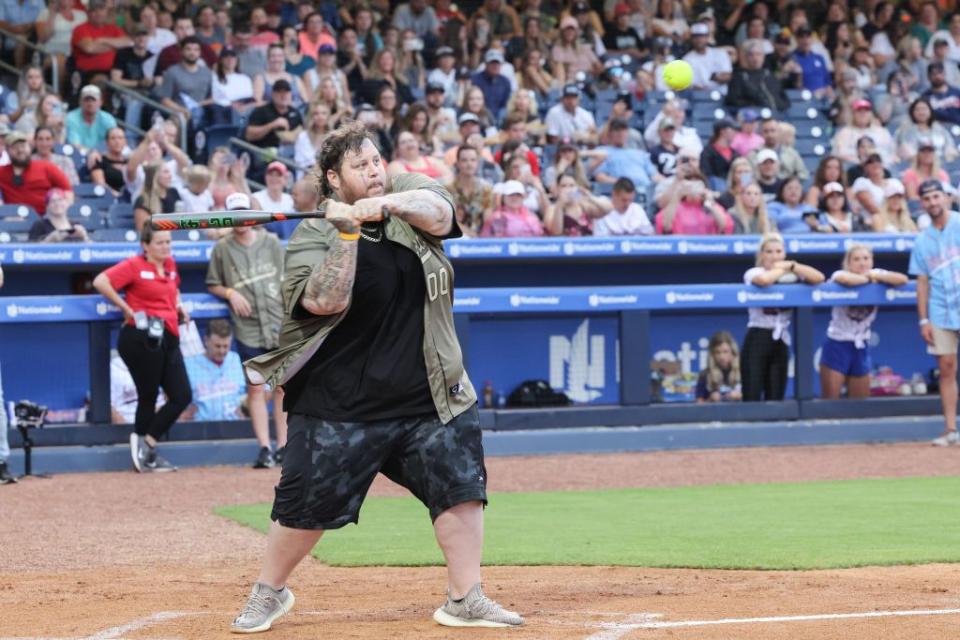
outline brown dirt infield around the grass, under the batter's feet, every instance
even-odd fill
[[[488,468],[493,493],[684,486],[956,475],[960,450],[877,445],[491,458]],[[211,468],[0,487],[0,638],[230,637],[264,538],[211,509],[268,501],[276,477]],[[378,479],[373,493],[404,492]],[[341,569],[308,560],[291,580],[295,614],[267,637],[912,640],[953,637],[960,623],[960,565],[811,572],[491,567],[485,582],[494,598],[527,616],[525,627],[458,632],[433,624],[441,568]]]

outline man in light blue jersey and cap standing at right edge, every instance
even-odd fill
[[[910,254],[910,275],[917,278],[917,313],[927,353],[937,357],[944,432],[934,445],[960,444],[957,435],[957,347],[960,346],[960,214],[951,211],[943,185],[920,185],[930,226],[920,232]]]

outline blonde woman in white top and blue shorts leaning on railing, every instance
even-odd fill
[[[907,276],[873,267],[873,250],[854,244],[843,257],[843,269],[830,276],[831,282],[845,287],[859,287],[879,282],[891,287],[907,283]],[[870,396],[870,325],[877,317],[877,307],[833,307],[827,340],[820,352],[820,389],[827,400],[840,397],[844,383],[848,398]]]

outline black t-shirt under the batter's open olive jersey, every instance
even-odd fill
[[[367,229],[371,230],[367,230]],[[350,310],[284,386],[284,409],[370,422],[436,412],[423,355],[426,284],[420,259],[364,225]]]

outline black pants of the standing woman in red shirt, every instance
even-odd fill
[[[164,331],[163,341],[157,346],[146,331],[124,325],[117,340],[117,351],[137,386],[135,431],[137,435],[159,440],[193,401],[187,368],[180,353],[180,339]],[[160,387],[167,394],[167,403],[157,411]]]

